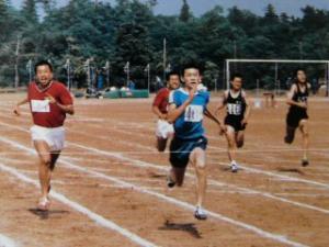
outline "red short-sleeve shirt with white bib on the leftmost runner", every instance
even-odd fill
[[[73,104],[73,100],[67,88],[59,81],[52,81],[45,89],[39,89],[36,82],[31,82],[27,90],[27,99],[33,116],[33,122],[43,127],[63,126],[66,113],[54,103],[49,103],[47,97],[64,105]]]

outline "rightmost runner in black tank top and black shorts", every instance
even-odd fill
[[[304,156],[302,165],[309,165],[308,161],[308,114],[307,114],[307,99],[309,83],[307,83],[306,75],[303,69],[296,71],[296,82],[292,85],[287,97],[287,104],[290,110],[286,116],[286,135],[284,142],[292,144],[295,138],[296,128],[299,128],[303,134],[303,149]]]

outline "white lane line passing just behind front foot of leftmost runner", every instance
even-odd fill
[[[0,162],[0,170],[5,171],[14,177],[16,177],[18,179],[20,179],[23,182],[33,184],[35,187],[38,187],[38,182],[34,179],[29,178],[27,176],[23,175],[22,172],[20,172],[18,169],[14,169],[12,167],[9,167],[4,164]],[[115,224],[114,222],[90,211],[89,209],[84,207],[83,205],[69,200],[67,197],[65,197],[61,193],[58,193],[54,190],[50,191],[50,195],[53,198],[55,198],[57,201],[68,205],[69,207],[73,209],[75,211],[88,216],[90,220],[94,221],[97,224],[115,231],[117,233],[120,233],[121,235],[125,236],[126,238],[128,238],[129,240],[132,240],[133,243],[139,245],[139,246],[149,246],[149,247],[155,247],[156,245],[137,236],[136,234],[121,227],[120,225]]]

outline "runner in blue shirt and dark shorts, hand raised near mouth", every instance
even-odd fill
[[[201,71],[196,65],[188,65],[182,70],[183,88],[174,90],[169,97],[168,121],[173,123],[174,137],[170,144],[171,170],[168,176],[168,187],[181,187],[185,168],[191,162],[196,173],[196,209],[194,216],[206,220],[202,209],[206,190],[206,154],[207,139],[204,136],[203,117],[208,116],[223,128],[218,120],[207,110],[209,93],[197,90],[201,82]]]

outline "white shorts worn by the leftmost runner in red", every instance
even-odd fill
[[[30,128],[32,141],[45,141],[50,151],[61,150],[65,142],[65,128],[60,127],[42,127],[34,125]]]

